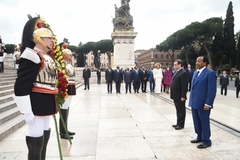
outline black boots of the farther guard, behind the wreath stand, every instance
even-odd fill
[[[66,129],[67,129],[67,118],[68,118],[68,109],[61,109],[61,113],[62,113],[62,118],[63,118],[63,121],[66,125]],[[59,118],[59,131],[60,131],[60,137],[62,139],[68,139],[68,136],[64,130],[64,127],[63,127],[63,124],[62,124],[62,121],[61,119]],[[69,135],[69,138],[70,139],[73,139],[72,136]]]

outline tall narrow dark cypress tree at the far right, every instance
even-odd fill
[[[227,56],[230,67],[235,66],[236,42],[234,39],[234,16],[231,1],[228,4],[226,19],[224,22],[224,54]]]

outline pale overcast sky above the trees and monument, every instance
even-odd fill
[[[131,0],[134,49],[150,49],[191,22],[226,18],[228,0]],[[240,0],[232,0],[235,33],[240,31]],[[120,0],[0,0],[0,35],[6,44],[21,42],[27,14],[40,14],[51,25],[58,42],[70,45],[111,39],[114,4]]]

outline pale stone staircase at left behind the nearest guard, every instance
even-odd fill
[[[0,141],[25,124],[13,100],[14,83],[17,78],[17,70],[13,67],[4,64],[4,73],[0,73]],[[78,81],[76,88],[81,85]]]

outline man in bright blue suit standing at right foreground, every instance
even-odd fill
[[[200,56],[196,60],[197,71],[193,74],[189,106],[192,108],[194,130],[197,138],[191,143],[199,143],[198,148],[210,147],[210,112],[217,92],[217,79],[213,70],[208,69],[207,58]]]

